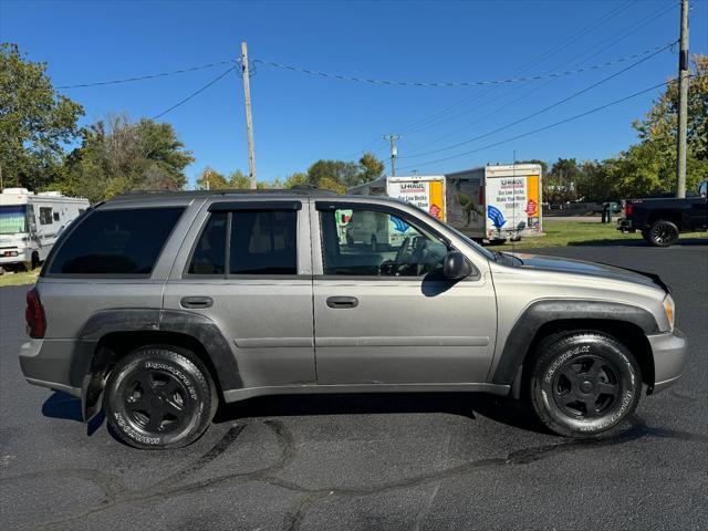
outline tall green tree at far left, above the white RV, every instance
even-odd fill
[[[4,186],[32,190],[63,175],[64,146],[79,134],[83,107],[56,93],[45,63],[0,44],[0,167]]]

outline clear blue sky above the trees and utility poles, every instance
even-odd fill
[[[691,53],[708,52],[708,2],[693,0]],[[467,2],[40,2],[0,1],[0,39],[45,61],[55,85],[167,72],[239,55],[378,80],[501,80],[582,69],[669,43],[677,0]],[[642,55],[646,58],[647,55]],[[486,146],[657,85],[675,75],[667,50],[551,111],[546,107],[635,60],[553,80],[493,86],[398,87],[310,76],[258,64],[251,79],[258,177],[305,170],[320,158],[387,156],[398,133],[400,174],[459,170],[487,162],[605,158],[632,144],[632,121],[658,90],[608,110],[496,147]],[[227,66],[152,81],[62,91],[84,105],[85,123],[108,112],[154,116]],[[450,108],[451,107],[451,108]],[[440,114],[440,112],[446,111]],[[248,170],[243,93],[231,72],[165,115],[196,163]],[[457,148],[442,149],[487,135]],[[434,162],[461,155],[445,162]],[[406,158],[407,157],[407,158]],[[430,163],[431,164],[426,164]]]

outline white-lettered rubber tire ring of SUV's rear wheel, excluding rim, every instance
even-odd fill
[[[144,346],[118,362],[106,384],[104,408],[121,440],[143,449],[178,448],[194,442],[206,430],[214,416],[216,393],[206,368],[189,354],[173,346]],[[126,386],[132,376],[146,369],[169,373],[186,388],[189,419],[183,428],[154,434],[128,420],[124,400]]]

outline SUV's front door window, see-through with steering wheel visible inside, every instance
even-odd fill
[[[447,246],[392,214],[320,212],[324,274],[421,277],[440,270]]]

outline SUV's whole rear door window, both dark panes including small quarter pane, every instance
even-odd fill
[[[284,210],[212,214],[195,247],[190,274],[223,275],[229,225],[230,274],[298,274],[298,212]]]

